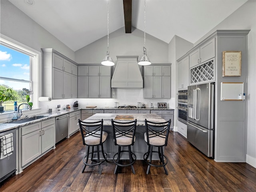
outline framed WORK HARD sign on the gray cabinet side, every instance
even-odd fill
[[[222,77],[240,77],[241,76],[241,51],[223,51],[222,52]]]

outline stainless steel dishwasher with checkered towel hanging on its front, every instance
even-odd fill
[[[13,133],[13,152],[10,156],[0,159],[0,182],[16,172],[16,129],[0,133],[0,138]]]

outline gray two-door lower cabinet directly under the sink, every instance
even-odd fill
[[[55,145],[55,118],[22,126],[21,167],[31,164]]]

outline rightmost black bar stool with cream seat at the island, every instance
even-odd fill
[[[164,156],[163,146],[167,146],[170,125],[171,120],[166,122],[150,122],[145,119],[146,132],[144,133],[144,140],[148,145],[148,152],[144,154],[143,158],[144,161],[148,164],[147,174],[149,173],[150,166],[155,166],[164,167],[165,174],[168,175],[167,169],[165,167],[168,160],[166,156]],[[158,151],[153,151],[153,146],[157,147]],[[160,164],[152,164],[152,153],[158,153]],[[164,162],[164,158],[166,162]]]

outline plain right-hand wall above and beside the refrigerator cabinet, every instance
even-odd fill
[[[214,27],[196,44],[215,30],[250,29],[248,34],[248,100],[247,108],[247,155],[246,162],[256,167],[256,1],[249,0],[238,10]],[[195,44],[195,45],[196,45]]]

